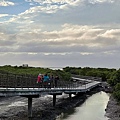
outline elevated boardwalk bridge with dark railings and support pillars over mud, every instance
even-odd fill
[[[44,88],[38,86],[37,78],[29,75],[16,75],[0,73],[0,97],[22,96],[28,98],[28,117],[32,117],[32,98],[41,95],[53,95],[53,106],[56,104],[56,96],[68,94],[86,93],[100,86],[101,82],[92,78],[72,77],[72,81],[58,81],[57,87]]]

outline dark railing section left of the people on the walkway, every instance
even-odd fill
[[[0,87],[37,87],[37,84],[34,76],[0,73]]]

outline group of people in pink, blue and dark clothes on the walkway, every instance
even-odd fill
[[[59,76],[48,76],[47,74],[39,74],[37,78],[37,83],[39,87],[44,87],[44,88],[51,88],[51,87],[57,87],[57,83],[59,80]]]

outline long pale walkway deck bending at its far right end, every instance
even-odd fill
[[[92,88],[101,85],[101,82],[92,81],[79,87],[58,87],[58,88],[0,88],[0,96],[21,96],[21,95],[48,95],[58,93],[87,92]]]

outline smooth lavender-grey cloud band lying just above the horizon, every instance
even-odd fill
[[[28,64],[29,66],[40,67],[108,67],[118,68],[120,56],[115,53],[113,55],[106,54],[93,54],[93,55],[81,55],[79,53],[74,54],[49,54],[44,55],[28,54],[28,53],[0,53],[2,65],[22,65]],[[117,57],[116,57],[117,55]],[[114,59],[116,58],[116,59]]]

